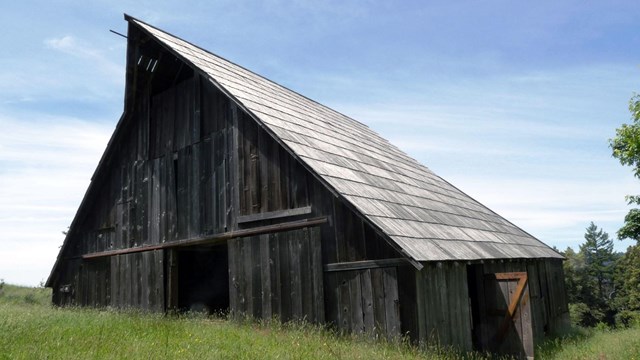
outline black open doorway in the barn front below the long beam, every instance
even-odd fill
[[[229,310],[227,245],[178,251],[178,309],[226,313]]]

